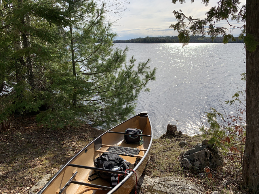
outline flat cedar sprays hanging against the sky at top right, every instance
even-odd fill
[[[180,2],[185,3],[184,0],[172,0],[172,3]],[[193,3],[194,0],[191,0]],[[209,0],[202,0],[202,3],[205,7],[208,6]],[[192,33],[193,36],[201,35],[205,37],[205,35],[210,35],[212,41],[214,41],[218,36],[222,35],[222,42],[228,43],[229,40],[235,41],[232,31],[235,28],[240,28],[241,33],[239,34],[239,39],[246,42],[247,50],[254,51],[258,45],[258,42],[255,41],[254,37],[251,37],[249,34],[245,36],[246,26],[233,26],[229,24],[228,20],[236,21],[237,23],[243,22],[245,23],[246,17],[246,9],[245,5],[240,7],[241,1],[233,1],[233,0],[225,0],[218,1],[218,4],[214,7],[211,7],[209,11],[206,13],[205,19],[194,19],[193,16],[187,17],[184,15],[181,9],[178,11],[172,11],[175,19],[177,20],[176,24],[171,24],[169,27],[173,28],[175,31],[179,33],[179,41],[183,46],[188,45],[190,42],[190,35]],[[240,7],[240,8],[239,8]],[[229,24],[229,33],[227,34],[228,29],[225,27],[218,27],[218,23],[222,20],[226,20]],[[186,21],[188,21],[188,25],[186,25]],[[208,26],[208,27],[207,27]],[[206,28],[207,27],[207,28]],[[207,32],[206,32],[207,31]]]

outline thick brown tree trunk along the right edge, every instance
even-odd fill
[[[246,33],[259,41],[259,2],[246,1]],[[243,160],[243,178],[246,187],[259,193],[259,45],[254,52],[246,49],[246,141]]]

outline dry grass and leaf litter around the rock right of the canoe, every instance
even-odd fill
[[[187,141],[188,145],[181,147],[180,141]],[[186,178],[206,190],[206,193],[220,191],[221,193],[242,193],[240,188],[241,173],[236,174],[236,170],[228,161],[218,169],[207,169],[202,171],[200,176],[197,171],[182,170],[179,163],[180,153],[194,147],[202,142],[202,137],[196,135],[190,137],[182,135],[180,137],[162,136],[160,139],[154,139],[151,147],[151,158],[148,163],[145,175],[151,177],[176,176]],[[210,174],[210,175],[209,175]],[[228,185],[222,185],[223,180],[228,181]]]

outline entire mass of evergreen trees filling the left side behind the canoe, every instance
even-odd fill
[[[114,47],[105,5],[0,1],[0,122],[31,112],[49,128],[109,126],[134,112],[155,69]]]

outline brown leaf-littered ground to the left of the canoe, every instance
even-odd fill
[[[34,116],[14,116],[7,130],[0,128],[0,193],[26,194],[45,174],[60,165],[103,131],[88,125],[49,130]]]

